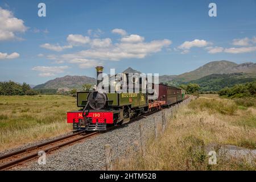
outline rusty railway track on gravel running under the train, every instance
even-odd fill
[[[185,97],[184,100],[187,100],[189,97]],[[155,114],[159,112],[160,110],[152,111],[151,113],[143,114],[137,118],[132,118],[130,122],[138,121],[139,119],[142,119],[145,116],[149,116],[152,114]],[[123,125],[119,126],[122,127]],[[117,129],[118,127],[109,127],[109,130]],[[27,147],[22,150],[10,152],[8,154],[0,156],[0,171],[10,169],[12,167],[15,167],[19,164],[23,164],[25,162],[28,162],[29,160],[38,158],[38,152],[44,151],[46,154],[49,154],[52,151],[55,151],[61,147],[68,146],[70,144],[79,142],[80,140],[92,137],[93,135],[98,134],[98,131],[95,131],[93,133],[85,133],[84,131],[80,131],[77,133],[73,133],[70,135],[67,135],[65,137],[49,140],[44,143],[36,144],[32,147]]]

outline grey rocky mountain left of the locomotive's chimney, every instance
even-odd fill
[[[96,78],[88,76],[64,76],[36,85],[33,89],[81,88],[83,84],[96,84]]]

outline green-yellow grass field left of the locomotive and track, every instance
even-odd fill
[[[69,96],[0,96],[0,148],[20,146],[72,130],[66,112],[77,110]]]

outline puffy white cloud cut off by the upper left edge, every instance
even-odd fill
[[[11,11],[0,7],[0,41],[15,39],[17,32],[26,30],[27,27],[24,26],[22,19],[15,18]]]

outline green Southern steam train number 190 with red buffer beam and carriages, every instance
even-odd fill
[[[73,130],[104,131],[109,126],[122,125],[131,118],[170,107],[184,99],[183,89],[163,83],[151,84],[149,89],[146,77],[129,73],[119,73],[112,84],[102,85],[103,67],[98,66],[96,70],[96,89],[77,92],[77,106],[81,110],[67,113],[67,122],[73,123]]]

